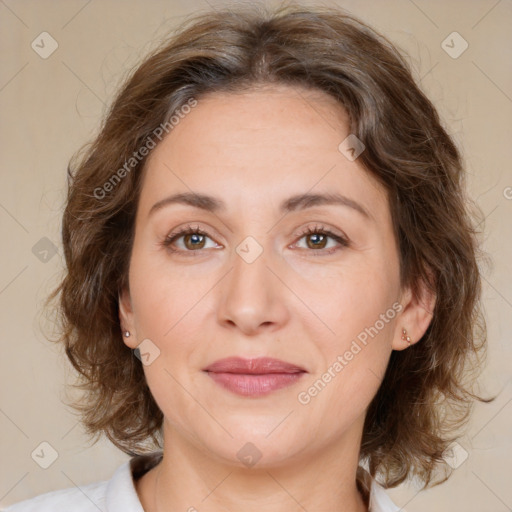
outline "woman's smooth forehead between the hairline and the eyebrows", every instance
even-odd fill
[[[151,153],[140,206],[149,209],[164,193],[205,188],[257,198],[247,199],[254,206],[274,195],[277,204],[283,189],[291,195],[338,188],[379,200],[376,181],[338,149],[349,133],[348,114],[322,91],[279,86],[210,93]]]

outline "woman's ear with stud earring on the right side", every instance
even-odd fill
[[[406,330],[410,345],[414,345],[422,338],[434,316],[436,294],[425,281],[420,280],[416,292],[410,287],[403,291],[400,304],[403,309],[396,321],[393,350],[409,347],[409,342],[402,339],[402,329]]]

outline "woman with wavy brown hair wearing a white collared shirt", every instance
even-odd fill
[[[446,479],[485,347],[463,178],[344,12],[180,27],[70,170],[51,297],[84,425],[133,458],[8,510],[387,512]]]

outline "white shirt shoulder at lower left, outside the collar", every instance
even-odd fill
[[[11,505],[5,512],[106,512],[107,486],[105,481],[47,492]]]

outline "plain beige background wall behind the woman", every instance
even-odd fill
[[[410,484],[390,494],[408,512],[512,510],[512,2],[337,4],[410,54],[416,76],[465,154],[471,193],[486,215],[485,249],[493,259],[484,274],[489,358],[481,389],[498,398],[476,408],[459,441],[468,457],[447,483],[419,494]],[[87,447],[76,418],[61,402],[71,377],[67,362],[41,333],[42,301],[62,269],[66,165],[95,133],[116,86],[155,38],[183,16],[221,5],[0,0],[1,507],[107,479],[127,460],[108,442]],[[31,48],[43,31],[58,43],[47,59]],[[456,59],[441,46],[453,31],[469,44]],[[57,253],[50,250],[42,261],[51,244]],[[31,458],[43,441],[58,452],[48,469]]]

